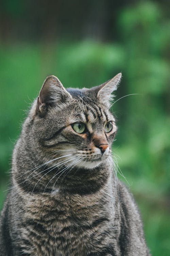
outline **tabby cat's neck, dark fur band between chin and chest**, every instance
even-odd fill
[[[93,169],[74,167],[64,172],[65,167],[53,168],[41,162],[35,165],[33,158],[14,162],[13,183],[30,193],[53,193],[59,187],[70,194],[95,193],[107,183],[110,175],[107,164]]]

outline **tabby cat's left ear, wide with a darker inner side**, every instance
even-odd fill
[[[54,76],[48,76],[41,87],[37,99],[37,110],[44,113],[49,106],[60,106],[72,96],[66,91],[60,80]]]

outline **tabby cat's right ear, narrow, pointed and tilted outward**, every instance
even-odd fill
[[[107,107],[110,107],[110,102],[113,100],[115,91],[118,87],[122,74],[115,75],[111,80],[98,86],[97,98],[102,101]]]

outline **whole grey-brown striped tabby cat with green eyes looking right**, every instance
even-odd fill
[[[109,111],[121,73],[91,89],[48,76],[12,160],[1,256],[149,256],[133,196],[113,172]]]

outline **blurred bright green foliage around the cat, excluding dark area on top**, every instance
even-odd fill
[[[138,95],[113,105],[119,127],[113,152],[139,204],[152,254],[168,256],[170,22],[156,3],[141,2],[121,11],[117,28],[119,42],[0,46],[0,206],[23,110],[29,109],[45,77],[54,74],[66,87],[90,88],[122,71],[115,100]]]

